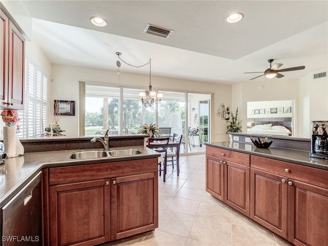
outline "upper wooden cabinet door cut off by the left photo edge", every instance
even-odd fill
[[[0,9],[0,106],[5,105],[8,92],[8,22]]]

